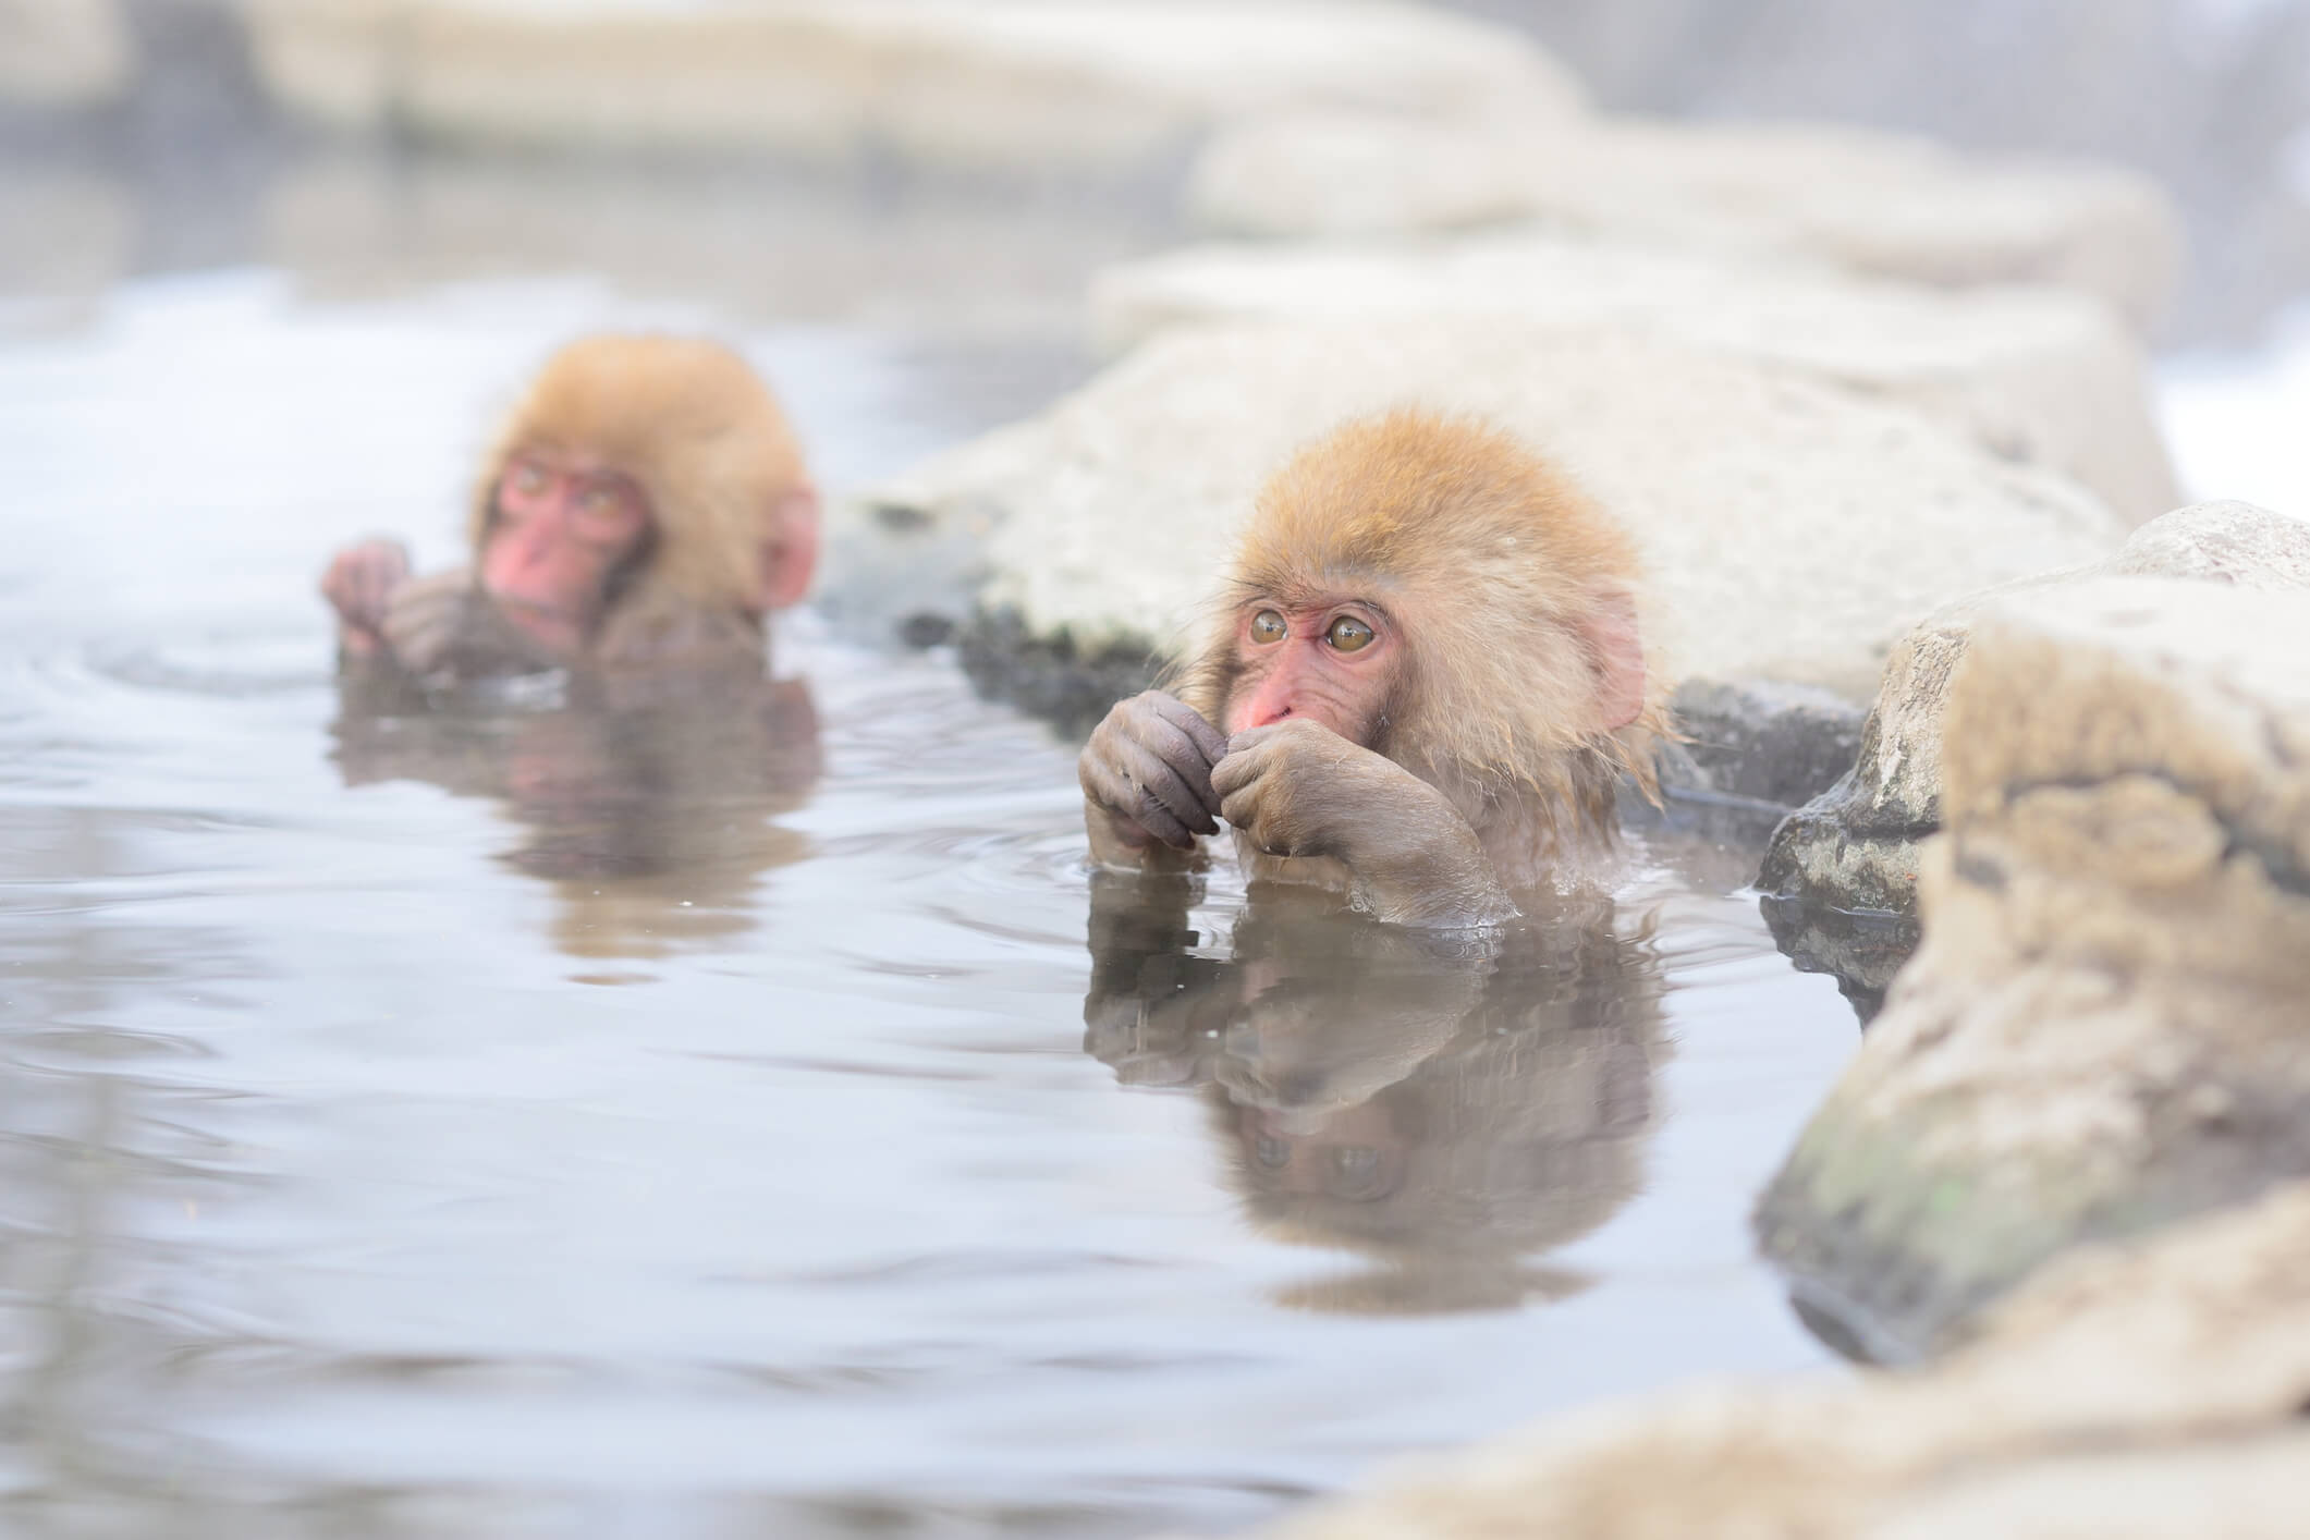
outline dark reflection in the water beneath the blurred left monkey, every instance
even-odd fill
[[[499,799],[522,829],[501,859],[559,900],[554,947],[665,956],[744,930],[755,880],[804,854],[772,820],[818,780],[818,713],[795,679],[663,686],[573,681],[520,709],[349,679],[335,760],[346,785],[427,780]]]

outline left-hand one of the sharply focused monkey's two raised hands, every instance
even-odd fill
[[[1157,845],[1194,850],[1199,833],[1217,833],[1210,767],[1224,753],[1227,737],[1176,695],[1146,690],[1116,702],[1074,764],[1090,854],[1143,866]]]

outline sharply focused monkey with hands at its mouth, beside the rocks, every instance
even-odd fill
[[[1093,857],[1162,868],[1227,820],[1250,875],[1377,919],[1485,926],[1610,847],[1622,773],[1670,732],[1635,552],[1511,436],[1349,423],[1261,489],[1171,690],[1079,764]]]

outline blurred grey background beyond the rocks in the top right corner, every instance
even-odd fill
[[[2298,0],[1462,0],[1610,109],[1832,118],[2093,157],[2181,205],[2162,337],[2245,342],[2310,284],[2310,5]]]

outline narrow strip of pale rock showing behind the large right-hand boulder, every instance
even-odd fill
[[[2303,591],[2310,524],[2252,503],[2178,508],[2137,529],[2107,561],[1973,593],[1931,614],[1885,665],[1853,769],[1774,831],[1758,887],[1806,907],[1913,914],[1917,843],[1940,827],[1943,707],[1982,607],[2128,573]]]

